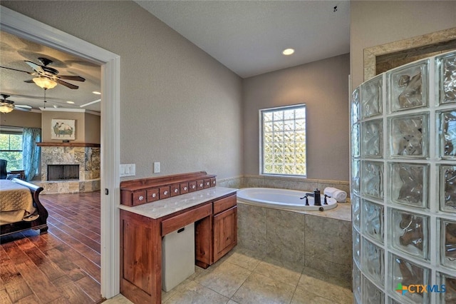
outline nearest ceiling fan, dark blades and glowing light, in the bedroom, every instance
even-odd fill
[[[58,70],[51,68],[51,66],[48,66],[49,64],[52,64],[52,62],[53,62],[51,59],[39,57],[38,60],[41,62],[41,64],[35,64],[32,61],[24,60],[25,63],[28,64],[28,66],[30,66],[33,69],[33,72],[13,69],[13,68],[9,68],[7,66],[0,66],[0,68],[24,72],[31,76],[35,76],[35,78],[33,78],[31,80],[26,80],[24,82],[36,83],[37,86],[40,86],[41,88],[44,88],[45,90],[48,88],[53,88],[54,86],[57,85],[57,83],[59,83],[63,86],[66,86],[67,88],[73,88],[73,89],[79,88],[79,86],[75,86],[74,84],[63,81],[62,79],[71,80],[71,81],[86,81],[86,78],[83,78],[81,76],[58,75]]]

